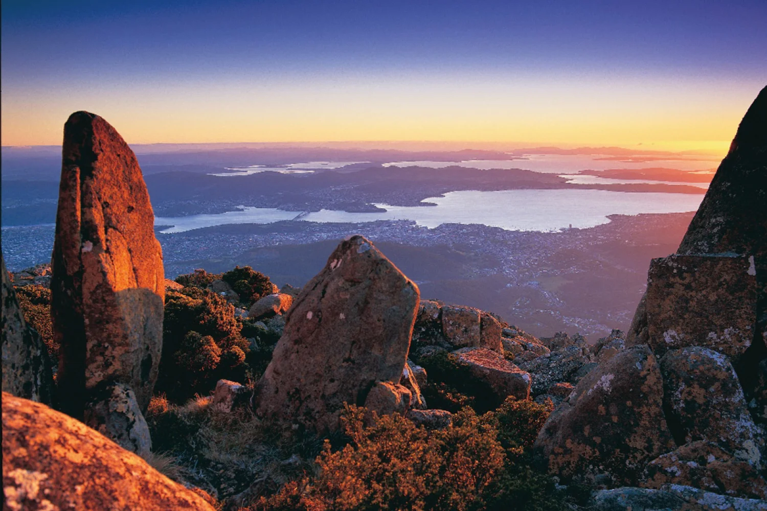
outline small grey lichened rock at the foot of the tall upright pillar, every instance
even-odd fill
[[[115,444],[139,456],[152,450],[149,426],[141,414],[136,395],[127,385],[100,388],[85,407],[83,422]]]

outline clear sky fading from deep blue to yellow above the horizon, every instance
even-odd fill
[[[433,140],[725,152],[765,0],[2,2],[2,145]]]

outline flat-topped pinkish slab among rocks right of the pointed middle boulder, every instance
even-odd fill
[[[477,379],[486,382],[501,399],[512,395],[517,399],[530,397],[530,375],[487,348],[462,348],[453,352],[460,362],[469,366]]]

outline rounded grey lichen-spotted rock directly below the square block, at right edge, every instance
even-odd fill
[[[729,359],[695,346],[660,359],[667,418],[686,443],[711,441],[739,460],[760,467],[764,439],[749,414],[738,376]],[[669,416],[670,414],[670,416]]]

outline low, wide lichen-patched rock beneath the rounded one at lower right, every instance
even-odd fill
[[[767,499],[767,483],[759,470],[706,441],[684,444],[647,464],[641,486],[660,488],[664,484],[681,484],[731,496]]]

